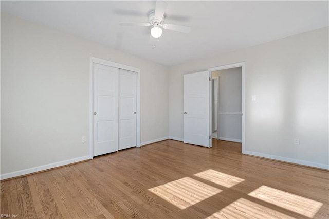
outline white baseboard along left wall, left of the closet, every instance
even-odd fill
[[[76,162],[89,160],[89,159],[90,159],[90,157],[88,155],[88,156],[83,156],[83,157],[77,157],[74,159],[59,161],[56,163],[50,163],[48,165],[42,165],[39,167],[32,167],[32,168],[25,169],[25,170],[19,170],[19,171],[15,171],[15,172],[11,172],[11,173],[4,173],[4,174],[0,175],[0,179],[2,180],[2,179],[9,179],[9,178],[17,177],[17,176],[23,176],[26,174],[44,171],[44,170],[48,170],[51,168],[61,167],[61,166],[69,165],[71,163],[76,163]]]

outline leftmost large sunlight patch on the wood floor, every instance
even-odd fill
[[[149,189],[150,192],[165,199],[180,209],[188,208],[222,190],[204,184],[190,177],[184,177],[167,184]]]

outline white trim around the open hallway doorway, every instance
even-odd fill
[[[217,70],[224,70],[224,69],[230,69],[230,68],[237,68],[241,67],[241,88],[242,88],[242,94],[241,94],[241,99],[242,99],[242,153],[246,154],[246,142],[245,142],[245,124],[246,124],[246,117],[245,117],[245,62],[239,62],[239,63],[234,63],[234,64],[229,64],[229,65],[222,65],[218,67],[213,67],[213,68],[208,68],[210,74],[212,74],[213,71]],[[211,83],[212,86],[212,83]],[[210,117],[212,115],[210,114]],[[212,118],[210,118],[210,121],[212,121]]]

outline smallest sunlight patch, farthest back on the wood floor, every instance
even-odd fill
[[[236,184],[239,184],[240,182],[244,181],[244,179],[242,178],[231,176],[211,169],[200,173],[196,173],[194,174],[194,176],[206,179],[208,181],[211,181],[221,186],[225,186],[227,188],[235,186]]]

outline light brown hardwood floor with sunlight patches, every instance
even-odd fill
[[[18,218],[329,218],[329,172],[166,140],[1,182]]]

